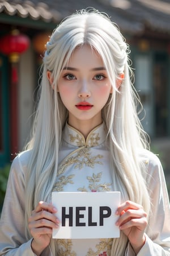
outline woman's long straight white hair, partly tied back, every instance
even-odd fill
[[[94,9],[80,10],[63,20],[46,44],[40,100],[32,139],[27,145],[31,154],[25,178],[25,232],[28,238],[27,219],[31,210],[40,200],[50,201],[56,182],[62,129],[68,118],[67,109],[57,93],[57,82],[74,49],[84,44],[99,53],[113,86],[113,93],[102,110],[102,118],[108,129],[107,146],[111,153],[111,170],[114,170],[114,190],[121,191],[122,201],[135,201],[143,205],[147,213],[150,212],[150,199],[143,179],[145,166],[139,157],[148,143],[138,119],[138,98],[131,82],[128,44],[107,15]],[[49,84],[47,71],[52,72],[53,85]],[[125,77],[117,90],[116,81],[122,72]],[[127,237],[121,232],[120,238],[113,239],[111,255],[124,255],[127,242]],[[55,255],[53,240],[50,245]]]

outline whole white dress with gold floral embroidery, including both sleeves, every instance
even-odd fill
[[[58,175],[53,191],[112,191],[109,152],[105,147],[104,125],[96,127],[85,140],[69,125],[63,131],[59,152]],[[5,202],[0,221],[0,255],[35,256],[32,238],[25,237],[25,173],[29,151],[20,153],[11,165]],[[138,256],[170,256],[170,209],[162,165],[151,152],[141,155],[147,167],[146,182],[152,203],[150,231]],[[99,193],[100,200],[100,193]],[[56,240],[58,251],[53,256],[111,256],[111,239]],[[52,256],[49,246],[41,256]],[[128,243],[124,255],[135,256]]]

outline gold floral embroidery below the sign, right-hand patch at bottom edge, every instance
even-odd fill
[[[99,256],[104,251],[107,252],[107,255],[111,255],[112,241],[113,241],[113,238],[100,239],[100,243],[96,245],[97,251],[93,251],[90,248],[86,256]]]

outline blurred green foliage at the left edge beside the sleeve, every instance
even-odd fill
[[[10,164],[7,164],[5,167],[0,168],[0,211],[1,211],[3,200],[5,197],[9,172],[10,172]]]

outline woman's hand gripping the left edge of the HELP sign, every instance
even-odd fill
[[[49,245],[52,229],[58,228],[59,220],[54,215],[56,212],[52,204],[40,201],[28,219],[28,228],[33,237],[31,246],[36,255],[40,255]]]

